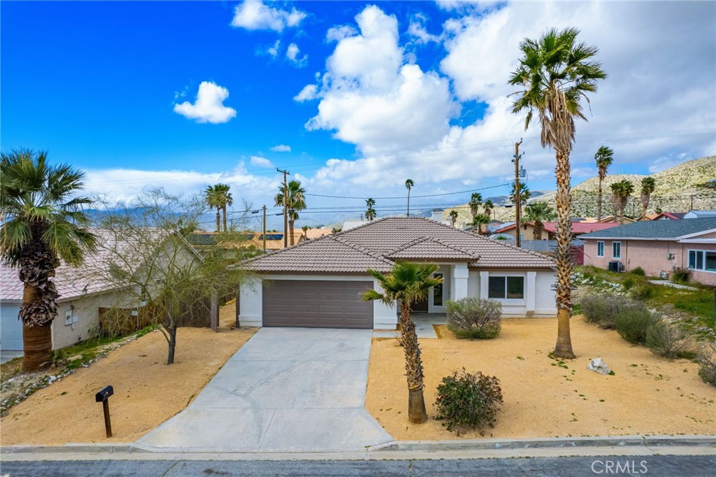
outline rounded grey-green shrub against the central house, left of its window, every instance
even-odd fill
[[[494,338],[502,326],[502,304],[482,298],[463,298],[445,303],[448,329],[458,338]]]

